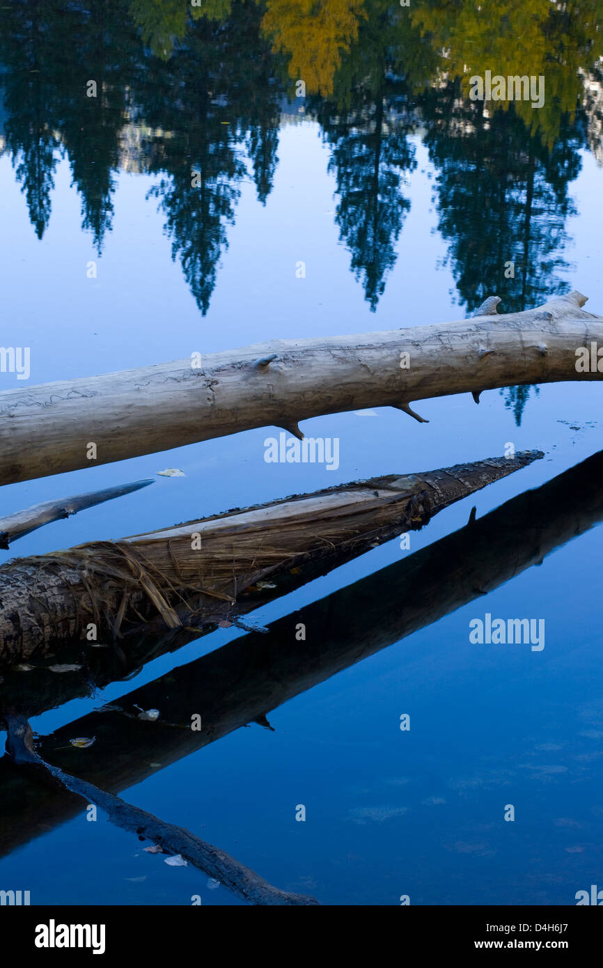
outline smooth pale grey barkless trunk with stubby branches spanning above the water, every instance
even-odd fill
[[[555,380],[601,379],[576,350],[603,347],[580,292],[497,316],[497,297],[458,322],[272,340],[188,360],[0,393],[0,484],[121,461],[342,410]],[[198,354],[197,354],[198,356]],[[596,357],[596,352],[595,352]],[[196,363],[199,366],[196,367]],[[96,456],[90,459],[91,444]]]

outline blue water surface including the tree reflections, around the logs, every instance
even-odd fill
[[[510,312],[577,288],[603,313],[595,0],[571,10],[528,0],[503,18],[491,2],[329,0],[324,16],[309,6],[2,9],[0,343],[30,348],[29,384],[272,338],[462,319],[494,294]],[[468,78],[486,71],[543,76],[544,104],[472,101]],[[0,373],[0,389],[19,385]],[[254,619],[267,624],[304,615],[463,528],[473,505],[479,522],[603,446],[594,382],[416,408],[429,423],[392,408],[302,423],[306,435],[339,439],[331,469],[266,463],[264,440],[278,436],[269,428],[6,486],[2,513],[155,478],[22,538],[0,563],[509,445],[544,451],[412,533],[409,548],[390,541],[261,606]],[[166,468],[186,476],[158,475]],[[580,487],[568,485],[555,513],[578,522],[580,510]],[[574,904],[576,892],[603,887],[596,523],[573,540],[578,524],[561,529],[540,565],[269,706],[271,729],[241,723],[162,762],[125,728],[114,757],[131,778],[115,792],[324,904]],[[514,528],[512,514],[500,528]],[[519,559],[526,534],[511,537]],[[451,575],[463,564],[456,547]],[[367,639],[380,634],[379,601],[384,617],[395,611],[382,577],[370,627],[358,598]],[[470,642],[469,622],[487,614],[544,620],[544,648]],[[314,646],[329,634],[309,626]],[[222,628],[128,681],[41,703],[32,728],[51,743],[66,727],[64,742],[79,717],[166,677],[154,692],[161,712],[162,699],[177,705],[172,670],[244,638]],[[238,695],[244,663],[228,669]],[[95,750],[77,749],[72,771]],[[91,823],[81,805],[46,812],[43,802],[25,822],[6,777],[4,796],[0,888],[29,890],[32,903],[245,903],[195,867],[145,853],[102,812]]]

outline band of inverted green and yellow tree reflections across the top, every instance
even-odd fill
[[[39,237],[65,151],[100,250],[126,135],[137,139],[133,166],[157,175],[173,257],[205,313],[240,183],[249,167],[265,202],[282,89],[303,79],[331,150],[340,238],[375,309],[408,209],[418,108],[460,300],[471,309],[498,291],[520,309],[563,287],[583,90],[600,146],[598,2],[15,0],[0,36],[6,147]],[[544,74],[545,106],[470,102],[468,77],[486,70]]]

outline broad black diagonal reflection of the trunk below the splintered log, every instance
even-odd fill
[[[268,636],[235,639],[60,726],[37,748],[62,770],[122,791],[248,723],[265,724],[283,703],[497,589],[601,520],[603,453],[272,622]],[[304,641],[295,634],[299,622]],[[40,711],[36,700],[19,696],[17,676],[0,686],[0,726],[15,712]],[[137,709],[158,709],[160,717],[129,715]],[[202,718],[198,732],[190,729],[194,712]],[[81,750],[70,744],[78,736],[96,741]],[[57,794],[44,777],[24,776],[8,756],[0,759],[0,790],[0,857],[81,810],[77,798]]]

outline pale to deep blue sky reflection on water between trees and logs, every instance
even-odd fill
[[[53,213],[39,243],[10,163],[0,159],[0,342],[31,347],[31,383],[271,337],[363,332],[462,315],[452,305],[449,270],[437,269],[445,246],[435,229],[432,169],[420,143],[406,190],[411,209],[398,260],[375,315],[338,244],[334,181],[326,173],[328,152],[317,127],[284,128],[278,154],[265,208],[253,185],[242,186],[204,319],[179,264],[171,261],[156,203],[145,201],[151,179],[120,177],[114,229],[106,237],[98,279],[88,280],[86,262],[95,253],[79,228],[79,199],[70,189],[67,164],[57,168]],[[567,226],[575,240],[569,258],[577,267],[568,281],[589,295],[587,309],[603,313],[602,173],[591,156],[583,160],[570,186],[580,215]],[[300,259],[306,262],[303,280],[295,277]],[[504,293],[497,294],[503,311]],[[10,385],[15,378],[1,375],[0,386]],[[487,457],[502,453],[509,440],[518,449],[547,452],[545,460],[449,508],[413,534],[414,551],[464,524],[473,503],[481,516],[603,445],[600,389],[594,384],[543,387],[537,400],[528,401],[519,429],[495,391],[485,393],[479,407],[467,394],[419,402],[416,408],[429,424],[418,425],[390,408],[377,408],[373,417],[347,413],[305,422],[307,433],[341,439],[340,468],[328,474],[316,465],[265,464],[262,441],[272,431],[261,429],[12,485],[3,489],[6,513],[153,476],[166,467],[187,474],[158,478],[134,496],[35,532],[1,553],[2,560],[357,477]],[[601,533],[595,529],[508,586],[292,700],[269,715],[275,733],[257,726],[239,730],[158,771],[127,799],[221,846],[279,887],[316,893],[327,903],[395,904],[402,893],[410,894],[411,903],[572,903],[576,891],[600,884],[603,876],[596,593]],[[271,620],[401,554],[408,553],[390,542],[266,606],[261,617]],[[486,612],[544,618],[545,650],[470,646],[468,621]],[[224,630],[177,656],[162,657],[135,682],[45,713],[34,728],[47,733],[231,637]],[[409,733],[398,728],[402,712],[410,714]],[[306,804],[306,823],[294,820],[297,803]],[[514,824],[502,820],[506,803],[515,805]],[[140,847],[105,821],[86,823],[82,811],[0,862],[0,887],[30,888],[32,900],[35,894],[41,903],[110,897],[117,903],[186,904],[196,892],[203,904],[225,903],[222,889],[203,887],[204,875],[171,869]],[[140,876],[147,879],[125,880]]]

